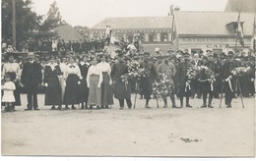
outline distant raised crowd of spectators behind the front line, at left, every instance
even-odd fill
[[[10,39],[2,40],[2,53],[11,53],[15,51],[35,52],[35,53],[57,53],[60,56],[66,56],[68,52],[74,52],[76,55],[89,54],[91,52],[107,51],[110,43],[115,44],[126,50],[129,45],[131,50],[140,50],[141,42],[138,37],[134,41],[128,41],[122,38],[121,40],[112,39],[113,37],[105,38],[85,38],[79,40],[57,39],[57,38],[39,38],[30,37],[27,41],[21,42],[16,49]],[[22,47],[21,47],[22,46]]]

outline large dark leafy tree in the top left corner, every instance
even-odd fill
[[[28,33],[38,29],[41,16],[32,12],[32,0],[15,0],[17,42],[27,40]],[[12,39],[12,0],[2,0],[2,37]]]

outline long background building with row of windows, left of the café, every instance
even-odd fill
[[[144,51],[154,52],[156,47],[160,47],[166,52],[170,47],[172,16],[106,18],[91,28],[91,37],[104,37],[106,26],[111,27],[112,36],[117,40],[133,41],[138,37]]]

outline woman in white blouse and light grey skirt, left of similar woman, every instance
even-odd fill
[[[93,108],[93,105],[96,105],[97,109],[101,106],[101,82],[102,73],[96,64],[96,58],[93,58],[92,66],[89,68],[87,75],[87,84],[89,87],[88,104],[90,105],[90,109]]]

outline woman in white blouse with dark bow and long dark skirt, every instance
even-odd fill
[[[69,57],[69,64],[65,69],[64,78],[66,78],[64,104],[66,109],[69,109],[68,105],[70,104],[72,109],[76,109],[74,104],[79,104],[79,84],[82,76],[78,65],[75,64],[75,58],[72,56]]]

